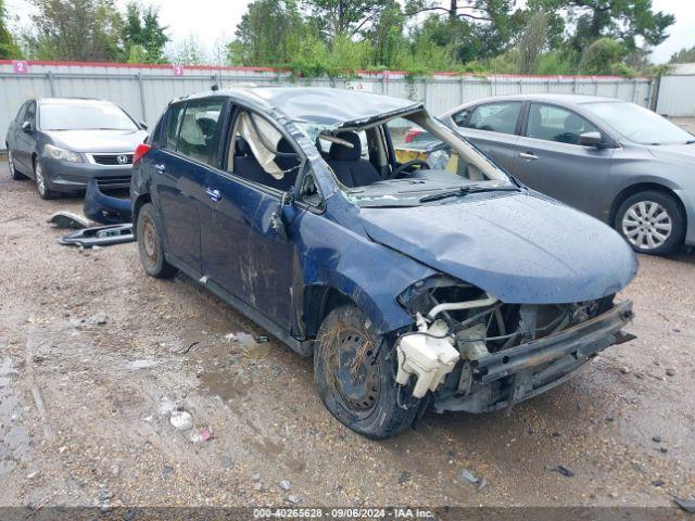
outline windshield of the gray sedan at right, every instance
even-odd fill
[[[635,143],[679,144],[695,139],[668,119],[633,103],[607,101],[585,103],[583,107]]]

